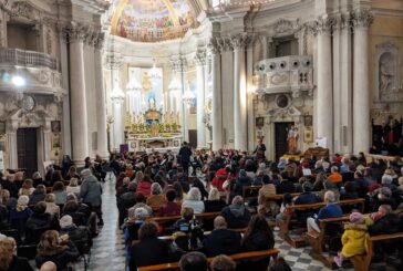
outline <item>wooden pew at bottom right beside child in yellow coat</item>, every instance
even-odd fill
[[[354,256],[350,258],[350,261],[354,265],[354,270],[356,271],[366,271],[370,270],[372,256],[374,253],[374,246],[378,241],[386,241],[386,240],[395,240],[403,239],[403,232],[392,233],[392,234],[381,234],[381,236],[372,236],[366,240],[368,243],[368,252],[363,256]]]

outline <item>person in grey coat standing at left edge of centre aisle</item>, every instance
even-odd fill
[[[81,171],[83,177],[83,184],[80,188],[80,199],[83,204],[90,206],[92,211],[94,211],[99,218],[99,226],[103,226],[102,220],[102,186],[97,181],[96,177],[92,175],[90,168],[85,168]]]

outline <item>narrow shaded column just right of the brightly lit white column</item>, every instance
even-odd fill
[[[221,62],[217,41],[211,39],[211,81],[213,81],[213,150],[223,148],[223,100],[221,100]]]

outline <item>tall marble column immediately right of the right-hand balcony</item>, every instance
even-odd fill
[[[332,20],[321,18],[318,20],[318,88],[317,114],[318,137],[327,138],[327,147],[333,152],[333,90],[332,90],[332,46],[331,46]]]

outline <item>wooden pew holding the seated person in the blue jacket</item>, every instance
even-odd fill
[[[364,210],[364,202],[365,200],[363,198],[359,199],[347,199],[347,200],[340,200],[338,201],[339,206],[355,206],[360,205],[360,211],[362,212]],[[293,205],[290,206],[289,209],[294,213],[296,211],[304,211],[304,210],[318,210],[321,207],[326,206],[326,202],[318,202],[318,204],[309,204],[309,205]],[[279,237],[282,238],[285,241],[287,241],[290,246],[293,248],[299,248],[306,244],[306,240],[302,236],[297,238],[290,237],[290,227],[292,223],[297,223],[298,221],[291,217],[287,217],[285,220],[279,221]],[[306,227],[306,226],[303,226]]]

